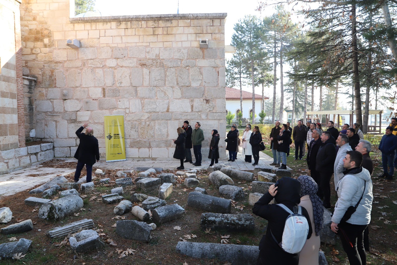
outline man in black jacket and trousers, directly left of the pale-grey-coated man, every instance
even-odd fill
[[[321,135],[321,147],[316,157],[316,170],[320,172],[320,189],[324,195],[323,206],[331,209],[331,186],[330,180],[333,174],[333,164],[336,159],[336,141],[330,132]]]

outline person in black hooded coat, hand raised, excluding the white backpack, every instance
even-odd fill
[[[256,264],[298,265],[299,253],[291,254],[285,252],[278,245],[278,243],[281,242],[285,220],[289,216],[289,213],[276,204],[269,204],[273,198],[276,200],[276,203],[282,203],[293,211],[293,207],[297,206],[301,201],[301,184],[294,178],[281,178],[276,184],[270,186],[269,191],[254,204],[252,213],[268,221],[266,235],[262,236],[259,243],[259,257]],[[308,223],[310,223],[310,217],[304,207],[302,207],[302,215],[304,215]],[[273,239],[272,234],[277,242]],[[310,238],[311,235],[312,227],[309,225],[307,238]]]

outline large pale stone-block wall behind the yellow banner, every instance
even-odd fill
[[[23,2],[23,74],[37,77],[36,136],[54,141],[55,157],[74,155],[85,122],[104,157],[103,116],[112,114],[124,115],[129,158],[172,159],[184,120],[201,122],[203,157],[212,129],[225,137],[226,14],[69,19],[69,1]],[[75,38],[80,48],[66,46]]]

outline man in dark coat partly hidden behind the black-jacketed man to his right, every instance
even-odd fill
[[[310,170],[310,176],[314,181],[317,183],[317,186],[320,187],[320,172],[316,170],[316,157],[318,153],[318,149],[321,146],[321,139],[320,139],[320,129],[314,129],[312,132],[312,141],[309,143],[309,147],[307,149],[307,165]],[[317,195],[321,199],[324,197],[322,194],[322,190],[317,190]]]

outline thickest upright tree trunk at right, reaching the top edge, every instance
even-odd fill
[[[357,49],[357,25],[356,25],[356,5],[351,5],[351,49],[353,55],[353,80],[354,80],[354,95],[356,103],[356,122],[362,125],[361,112],[361,94],[360,94],[360,75],[358,72],[358,49]]]

